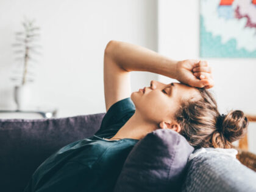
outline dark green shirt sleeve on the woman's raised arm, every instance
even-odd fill
[[[101,127],[95,135],[99,137],[112,137],[135,112],[135,105],[130,97],[114,103],[102,119]]]

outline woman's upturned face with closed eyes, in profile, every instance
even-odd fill
[[[195,87],[182,83],[165,84],[159,81],[151,81],[150,87],[144,87],[140,91],[132,92],[130,98],[136,111],[144,120],[159,123],[172,119],[182,100],[200,98],[200,93]]]

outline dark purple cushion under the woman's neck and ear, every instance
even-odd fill
[[[149,133],[127,157],[115,192],[179,191],[193,151],[185,137],[176,131],[157,129]]]

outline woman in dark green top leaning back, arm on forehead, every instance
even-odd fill
[[[141,70],[181,83],[151,81],[130,94],[129,72]],[[206,90],[213,87],[206,61],[174,61],[133,44],[110,41],[104,54],[107,113],[93,137],[64,146],[35,171],[25,191],[113,191],[124,161],[138,140],[172,129],[195,148],[230,148],[242,137],[241,111],[220,115]]]

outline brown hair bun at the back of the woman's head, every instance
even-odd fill
[[[219,115],[216,125],[219,133],[230,143],[243,138],[249,124],[243,111],[230,111],[227,115]]]

